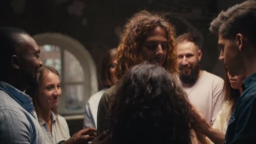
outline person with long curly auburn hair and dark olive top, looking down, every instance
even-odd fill
[[[127,70],[143,61],[156,64],[177,74],[175,29],[163,15],[139,11],[127,21],[120,38],[115,77],[120,79]],[[109,128],[108,99],[115,93],[109,88],[100,100],[97,113],[97,134]]]

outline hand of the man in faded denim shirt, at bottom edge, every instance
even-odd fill
[[[88,143],[89,141],[92,141],[96,137],[96,129],[95,128],[86,128],[79,130],[77,133],[72,135],[70,139],[68,139],[65,142],[62,142],[63,144],[69,144],[69,143]]]

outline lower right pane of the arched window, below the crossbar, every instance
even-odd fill
[[[85,105],[85,100],[83,99],[84,93],[83,85],[66,85],[66,109],[83,109]]]

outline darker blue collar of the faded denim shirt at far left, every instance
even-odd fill
[[[17,101],[25,110],[30,112],[31,115],[37,119],[37,114],[32,103],[33,100],[30,96],[3,81],[0,81],[0,89],[9,94],[11,98]]]

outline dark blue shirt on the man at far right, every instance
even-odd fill
[[[243,81],[242,88],[228,122],[225,143],[256,142],[256,72]]]

